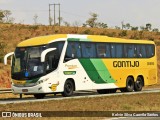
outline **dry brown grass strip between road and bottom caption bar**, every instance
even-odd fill
[[[159,100],[160,93],[145,93],[7,104],[0,111],[160,111]]]

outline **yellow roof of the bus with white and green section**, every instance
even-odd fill
[[[118,42],[118,43],[145,43],[145,44],[154,44],[150,40],[133,40],[133,39],[123,39],[123,38],[114,38],[100,35],[76,35],[76,34],[55,34],[48,36],[40,36],[31,38],[25,41],[22,41],[18,44],[18,47],[27,47],[27,46],[38,46],[45,45],[56,40],[59,41],[90,41],[90,42]]]

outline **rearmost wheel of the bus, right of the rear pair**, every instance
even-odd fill
[[[134,84],[135,91],[141,91],[143,87],[143,79],[141,77],[137,77],[137,80]]]

